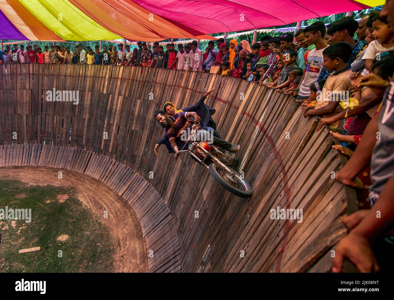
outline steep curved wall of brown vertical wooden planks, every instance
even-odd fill
[[[199,72],[94,65],[1,68],[0,143],[77,148],[73,151],[106,157],[138,173],[171,212],[182,272],[329,269],[330,250],[346,234],[341,220],[355,203],[348,189],[331,179],[341,165],[331,150],[333,139],[325,129],[315,132],[317,119],[303,118],[292,98]],[[254,191],[249,200],[225,191],[190,157],[174,163],[164,146],[158,156],[153,151],[163,134],[154,112],[167,101],[178,108],[190,105],[212,87],[207,103],[216,108],[218,131],[242,146],[239,169]],[[79,91],[80,103],[47,102],[46,91],[53,88]],[[303,222],[272,220],[270,209],[277,206],[302,208]],[[167,243],[163,239],[160,243]],[[172,257],[165,263],[174,263],[177,255]]]

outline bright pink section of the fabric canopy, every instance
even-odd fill
[[[369,8],[353,0],[132,0],[152,13],[203,33],[285,25]]]

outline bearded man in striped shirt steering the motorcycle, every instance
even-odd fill
[[[180,112],[176,113],[172,117],[166,117],[165,112],[162,110],[158,111],[154,117],[162,125],[162,127],[165,128],[165,134],[167,135],[173,152],[175,152],[175,160],[177,160],[179,148],[183,149],[184,147],[188,147],[186,141],[182,141],[180,139],[181,135],[185,130],[187,131],[188,128],[193,126],[193,121],[199,123],[201,118],[194,111],[185,113]],[[200,131],[204,131],[204,129]],[[240,150],[240,145],[232,145],[223,139],[219,139],[215,136],[212,137],[212,144],[215,146],[231,152],[237,152]]]

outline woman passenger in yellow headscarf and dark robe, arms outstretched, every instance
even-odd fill
[[[166,102],[163,106],[163,110],[165,111],[165,117],[172,117],[176,113],[186,112],[186,111],[194,111],[199,115],[201,118],[201,128],[211,132],[214,137],[218,137],[221,139],[221,135],[219,132],[216,131],[216,124],[212,119],[212,115],[216,112],[216,110],[212,107],[209,107],[204,103],[206,97],[214,91],[215,88],[208,91],[204,96],[194,105],[182,108],[178,110],[174,104],[171,102]],[[168,140],[167,135],[164,133],[164,136],[160,139],[160,141],[154,146],[154,153],[157,155],[157,148],[161,145],[165,144],[169,153],[174,153],[173,149],[171,148],[171,144]]]

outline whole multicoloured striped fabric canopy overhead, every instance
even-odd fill
[[[214,39],[208,33],[290,24],[384,0],[0,0],[0,38],[90,41]]]

